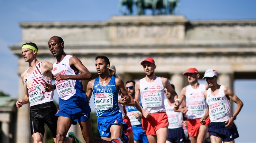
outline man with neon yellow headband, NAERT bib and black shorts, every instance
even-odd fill
[[[38,47],[35,43],[25,43],[21,50],[29,68],[20,76],[25,96],[16,102],[16,107],[30,102],[30,131],[34,142],[44,142],[45,124],[56,142],[57,108],[53,103],[53,91],[47,92],[44,88],[44,83],[52,83],[53,64],[37,60]]]

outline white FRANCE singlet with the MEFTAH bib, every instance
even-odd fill
[[[224,87],[220,86],[217,95],[211,94],[211,88],[207,90],[206,101],[209,106],[211,122],[226,122],[231,117],[230,100],[224,93]]]

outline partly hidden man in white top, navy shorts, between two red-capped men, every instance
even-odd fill
[[[171,84],[173,89],[175,87]],[[183,120],[183,114],[181,112],[174,111],[174,97],[171,96],[171,93],[165,89],[165,95],[167,99],[164,100],[164,106],[166,114],[168,116],[168,137],[166,143],[182,143],[185,142],[185,134],[183,130],[183,123],[186,121]],[[185,106],[185,105],[182,105]]]

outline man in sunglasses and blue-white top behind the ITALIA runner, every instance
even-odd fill
[[[126,82],[126,88],[131,97],[135,98],[135,81],[129,80]],[[142,106],[141,102],[139,102]],[[127,116],[130,119],[132,125],[132,132],[134,133],[134,142],[135,143],[148,143],[147,135],[142,130],[141,125],[141,112],[139,112],[134,106],[126,106]]]

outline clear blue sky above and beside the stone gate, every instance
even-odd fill
[[[255,0],[181,0],[176,14],[188,20],[256,20]],[[17,56],[10,45],[21,41],[19,22],[84,22],[106,21],[112,15],[121,15],[119,0],[0,0],[0,91],[17,98]],[[147,12],[150,14],[150,11]],[[47,43],[46,43],[47,44]],[[251,112],[256,80],[235,80],[234,92],[244,102],[236,124],[240,137],[236,142],[256,142],[255,111]],[[93,108],[93,107],[92,107]],[[247,123],[244,123],[247,121]],[[251,121],[251,122],[249,122]]]

